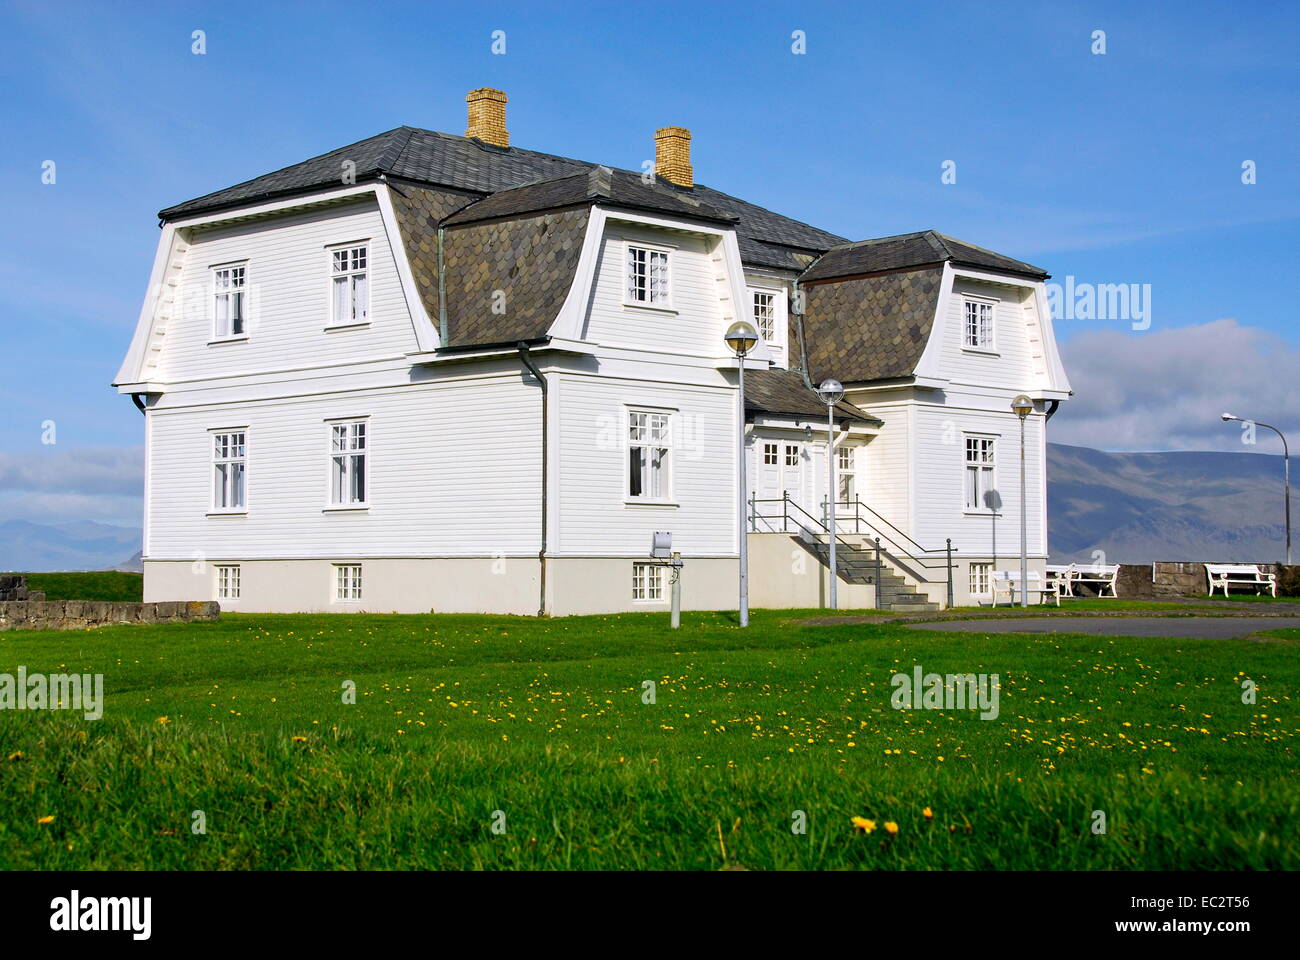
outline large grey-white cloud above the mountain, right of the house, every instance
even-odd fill
[[[1049,438],[1101,450],[1280,453],[1271,431],[1242,442],[1225,411],[1300,441],[1300,350],[1236,320],[1145,333],[1096,330],[1061,345],[1075,395]]]

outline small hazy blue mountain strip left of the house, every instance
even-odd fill
[[[140,570],[142,531],[92,520],[0,522],[0,570]]]

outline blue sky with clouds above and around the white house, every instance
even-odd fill
[[[159,208],[402,124],[463,133],[480,86],[516,146],[640,169],[679,124],[699,182],[853,239],[935,228],[1149,284],[1149,330],[1058,321],[1057,438],[1234,449],[1222,406],[1300,437],[1297,40],[1269,3],[0,4],[0,454],[38,455],[44,420],[64,449],[140,442],[108,384]]]

